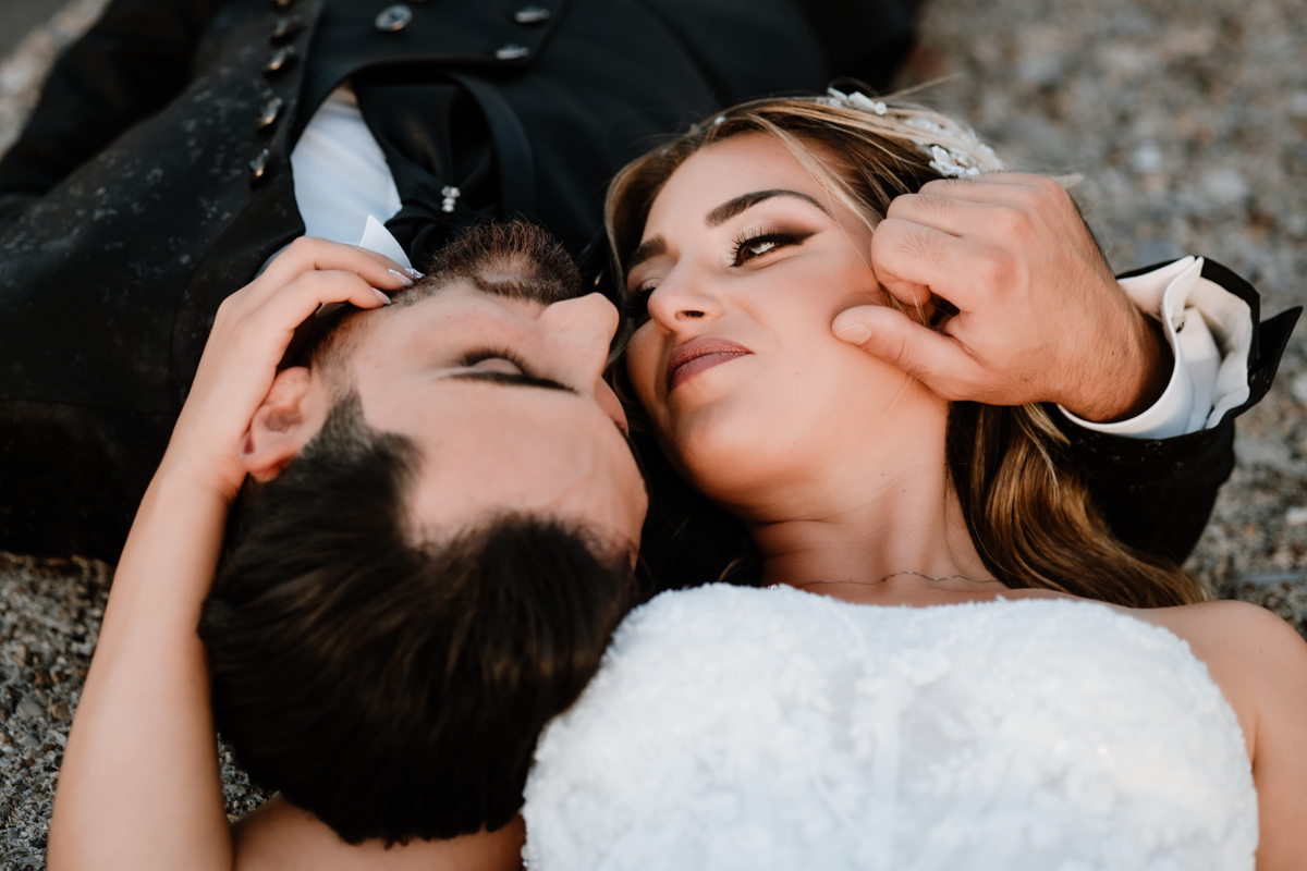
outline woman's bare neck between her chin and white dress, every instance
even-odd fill
[[[766,499],[742,512],[765,582],[847,581],[847,595],[844,584],[823,592],[859,599],[870,595],[867,585],[878,585],[874,598],[898,601],[928,577],[992,577],[945,470],[942,424],[914,430],[911,437],[877,439],[874,448],[814,456],[805,469],[770,482]],[[915,575],[901,576],[907,572]],[[895,584],[878,584],[889,576]],[[864,589],[852,590],[856,585]]]

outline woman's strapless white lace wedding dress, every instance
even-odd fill
[[[531,871],[1246,871],[1239,722],[1170,632],[1102,605],[667,593],[527,785]]]

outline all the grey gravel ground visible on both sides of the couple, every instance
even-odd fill
[[[73,0],[0,61],[0,151],[50,59],[102,8]],[[1081,172],[1119,270],[1183,253],[1249,278],[1270,315],[1307,276],[1307,20],[1287,0],[933,0],[904,85],[1018,166]],[[1187,568],[1307,635],[1307,328],[1240,419],[1238,467]],[[0,555],[0,867],[43,866],[108,567]],[[225,759],[229,811],[260,800]]]

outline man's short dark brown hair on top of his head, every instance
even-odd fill
[[[497,829],[634,601],[626,555],[506,515],[422,545],[417,448],[357,396],[247,488],[200,620],[220,734],[345,841]]]

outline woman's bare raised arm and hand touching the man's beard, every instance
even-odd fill
[[[412,282],[380,255],[302,239],[218,309],[123,556],[68,736],[52,871],[230,871],[231,833],[196,626],[244,479],[240,444],[305,319]]]

